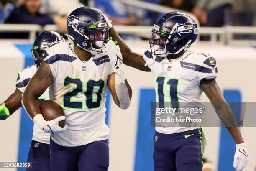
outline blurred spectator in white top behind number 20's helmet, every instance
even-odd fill
[[[79,0],[42,0],[40,12],[51,15],[60,33],[67,33],[67,16],[82,6]]]

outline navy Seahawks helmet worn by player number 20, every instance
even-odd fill
[[[109,26],[96,8],[81,7],[67,18],[67,36],[77,46],[95,55],[104,51],[109,38]]]

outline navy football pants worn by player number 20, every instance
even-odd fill
[[[107,171],[108,140],[77,147],[64,147],[50,140],[51,171]]]

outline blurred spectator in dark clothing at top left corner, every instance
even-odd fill
[[[24,4],[15,7],[13,12],[5,20],[9,24],[39,24],[44,26],[46,24],[54,24],[53,19],[46,15],[39,13],[41,0],[24,0]]]

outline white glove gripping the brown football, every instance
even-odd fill
[[[64,128],[59,126],[59,122],[62,120],[65,120],[65,116],[59,116],[54,120],[46,121],[44,120],[44,117],[42,114],[37,114],[33,121],[39,126],[41,130],[43,130],[45,133],[50,134],[58,134],[62,133],[64,130],[67,129],[67,124],[64,126]]]

